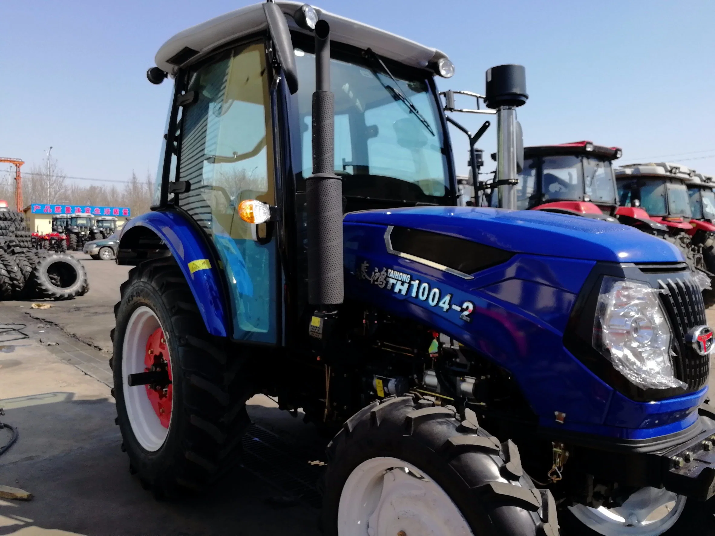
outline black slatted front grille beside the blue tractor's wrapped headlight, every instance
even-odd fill
[[[691,279],[659,279],[665,291],[664,304],[674,329],[674,365],[676,376],[686,382],[689,391],[704,387],[710,375],[710,356],[701,356],[686,342],[686,334],[706,324],[705,304],[698,285]]]

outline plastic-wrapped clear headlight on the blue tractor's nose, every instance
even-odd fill
[[[672,334],[658,299],[660,292],[645,283],[604,277],[593,347],[638,387],[688,387],[673,374]]]

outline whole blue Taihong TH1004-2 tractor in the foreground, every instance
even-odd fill
[[[174,92],[112,332],[145,487],[224,475],[262,392],[334,435],[328,535],[712,533],[713,333],[671,244],[458,207],[435,86],[454,67],[372,26],[267,2],[156,61]],[[524,86],[490,69],[481,110],[507,208]]]

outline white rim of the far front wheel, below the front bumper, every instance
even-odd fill
[[[685,508],[686,497],[655,487],[641,487],[621,507],[568,507],[576,519],[603,536],[659,536]]]

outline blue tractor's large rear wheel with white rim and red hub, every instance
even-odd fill
[[[203,490],[237,463],[250,424],[246,401],[253,392],[247,354],[207,332],[173,259],[134,267],[121,294],[114,306],[110,365],[129,469],[155,497]],[[157,332],[166,344],[168,359],[162,355],[162,366],[168,367],[172,382],[166,387],[167,393],[172,389],[167,410],[150,402],[152,396],[161,400],[159,387],[130,387],[127,382],[128,374],[144,372],[147,359],[157,362],[159,353],[153,358],[147,353]]]

